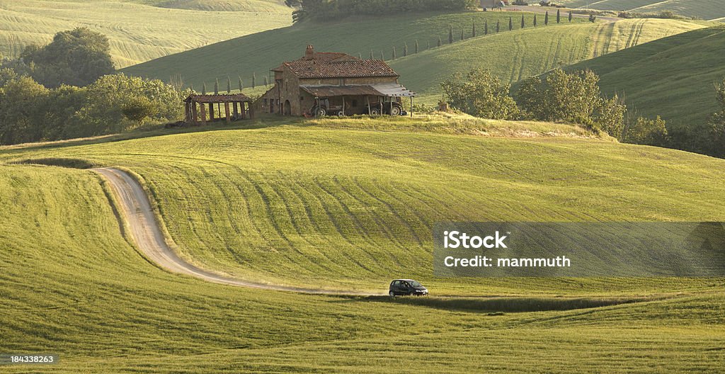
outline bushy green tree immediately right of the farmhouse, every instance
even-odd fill
[[[449,104],[478,117],[510,120],[518,115],[510,86],[501,83],[488,70],[472,70],[467,75],[455,73],[442,84]]]

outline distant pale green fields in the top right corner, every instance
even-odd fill
[[[568,7],[599,10],[631,10],[633,12],[662,12],[669,10],[688,17],[699,17],[703,20],[717,20],[725,18],[725,8],[719,0],[562,0],[558,3]]]

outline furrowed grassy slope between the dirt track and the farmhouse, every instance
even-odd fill
[[[674,285],[486,280],[462,287],[433,277],[430,230],[444,221],[724,218],[718,159],[585,140],[566,125],[398,121],[271,122],[254,130],[11,148],[3,157],[128,167],[148,183],[191,262],[297,286],[375,290],[410,276],[443,294],[662,290]]]

